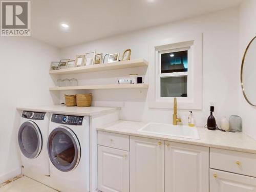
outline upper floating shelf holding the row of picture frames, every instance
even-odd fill
[[[124,69],[124,68],[133,68],[133,67],[142,67],[148,66],[148,62],[145,59],[133,59],[133,60],[124,60],[112,63],[97,64],[92,66],[82,66],[69,69],[59,69],[59,70],[50,70],[50,74],[56,75],[65,75],[65,74],[75,74],[75,73],[88,73],[95,71],[106,71],[114,69]]]

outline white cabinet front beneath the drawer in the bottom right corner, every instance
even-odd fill
[[[210,169],[210,192],[256,192],[256,178]]]

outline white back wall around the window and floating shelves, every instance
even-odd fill
[[[132,58],[148,60],[148,45],[155,40],[189,33],[203,33],[203,109],[194,111],[194,115],[197,125],[204,126],[209,115],[210,101],[216,102],[215,116],[218,122],[222,116],[229,117],[232,114],[238,114],[238,21],[238,8],[231,8],[65,48],[61,50],[61,57],[72,59],[77,54],[94,50],[103,52],[103,55],[105,53],[122,53],[123,50],[131,48]],[[76,77],[80,84],[116,83],[120,77],[129,76],[131,73],[143,74],[144,72],[145,68],[137,68],[69,75],[63,76],[63,78]],[[86,91],[84,92],[86,93]],[[67,93],[74,92],[62,92],[61,95]],[[148,94],[145,90],[95,90],[92,93],[94,105],[122,106],[122,119],[172,122],[172,110],[148,109]],[[62,100],[63,96],[61,96]],[[178,111],[185,124],[188,111]]]

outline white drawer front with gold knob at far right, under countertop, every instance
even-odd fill
[[[210,168],[256,177],[256,154],[210,148]]]

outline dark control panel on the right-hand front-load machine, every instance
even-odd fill
[[[60,124],[69,124],[69,125],[82,125],[82,116],[74,116],[74,115],[52,115],[52,122],[60,123]]]

